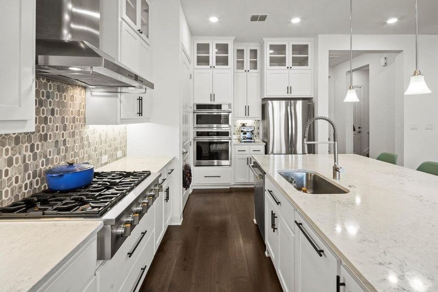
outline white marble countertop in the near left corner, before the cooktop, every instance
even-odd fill
[[[102,221],[1,221],[1,291],[36,291],[103,226]]]

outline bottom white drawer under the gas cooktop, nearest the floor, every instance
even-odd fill
[[[127,269],[128,274],[125,282],[119,292],[133,291],[138,292],[142,286],[142,282],[146,277],[147,270],[154,258],[154,235],[153,231],[146,245],[140,253],[137,261],[133,264],[132,269]]]

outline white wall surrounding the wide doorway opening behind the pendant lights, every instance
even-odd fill
[[[398,129],[394,139],[396,152],[403,152],[403,164],[416,168],[426,160],[438,161],[437,129],[424,130],[425,123],[437,126],[438,115],[438,36],[427,35],[419,37],[420,70],[425,75],[429,88],[428,95],[406,95],[403,92],[409,84],[410,75],[415,70],[415,36],[413,35],[355,35],[353,36],[353,50],[382,50],[402,51],[395,62],[400,64],[402,70],[395,74],[403,82],[396,80],[396,99],[394,107],[398,114],[394,116],[395,126]],[[348,50],[348,35],[319,35],[318,36],[318,102],[316,113],[327,115],[329,113],[329,50]],[[397,78],[396,78],[397,79]],[[409,124],[418,124],[418,130],[409,130]],[[401,128],[402,127],[402,128]],[[317,133],[318,140],[328,139],[328,130]],[[401,149],[402,147],[402,149]],[[319,153],[327,153],[327,147],[318,149]]]

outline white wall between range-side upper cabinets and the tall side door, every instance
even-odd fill
[[[191,54],[191,34],[179,0],[154,1],[150,8],[150,123],[128,125],[128,156],[175,156],[173,224],[182,218],[182,43]]]

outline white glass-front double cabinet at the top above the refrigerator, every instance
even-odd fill
[[[266,40],[266,69],[311,69],[311,41]]]

